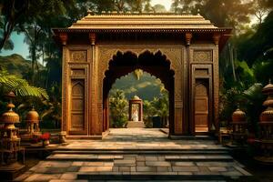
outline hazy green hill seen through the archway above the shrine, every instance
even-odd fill
[[[116,79],[111,91],[113,92],[115,89],[123,90],[127,99],[133,96],[139,96],[143,100],[150,101],[153,100],[154,96],[160,95],[160,89],[162,87],[163,84],[161,81],[147,72],[144,72],[139,80],[136,79],[133,73],[130,73]]]

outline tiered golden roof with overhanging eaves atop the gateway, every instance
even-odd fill
[[[220,35],[219,45],[227,42],[231,28],[219,28],[202,15],[102,14],[89,13],[68,28],[53,28],[56,37],[76,33],[194,33]]]

